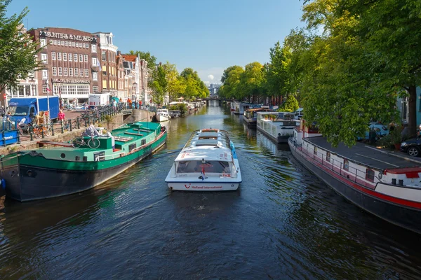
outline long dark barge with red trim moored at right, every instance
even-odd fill
[[[302,120],[288,144],[295,159],[350,202],[421,233],[421,161],[357,142],[331,146]]]

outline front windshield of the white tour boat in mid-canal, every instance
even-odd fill
[[[202,163],[201,160],[188,160],[178,162],[177,173],[231,173],[229,169],[229,162],[222,162],[217,160],[206,161]]]

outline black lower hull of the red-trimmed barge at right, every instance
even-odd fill
[[[400,227],[412,230],[413,232],[421,233],[420,210],[394,204],[392,202],[386,202],[378,197],[373,197],[372,195],[357,190],[356,188],[349,186],[346,181],[336,179],[323,169],[312,165],[311,162],[307,161],[297,150],[295,150],[295,147],[290,142],[288,142],[288,144],[290,145],[290,151],[293,154],[293,157],[298,160],[298,162],[319,177],[326,185],[342,195],[342,197],[345,197],[345,199],[356,204],[356,206],[361,209],[382,218],[389,223],[399,225]]]

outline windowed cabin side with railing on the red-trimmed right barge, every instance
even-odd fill
[[[312,160],[321,163],[321,165],[323,165],[324,167],[328,167],[328,169],[332,170],[333,172],[335,172],[335,174],[338,174],[348,180],[352,180],[355,183],[359,183],[362,184],[364,186],[374,186],[375,183],[374,179],[376,178],[377,181],[380,182],[380,180],[375,177],[374,172],[362,172],[359,169],[356,169],[355,167],[350,167],[345,166],[344,162],[340,162],[339,160],[335,160],[333,158],[327,157],[327,155],[323,155],[321,154],[321,157],[319,155],[317,155],[317,150],[314,151],[314,148],[309,148],[309,146],[307,146],[306,148],[302,148],[301,144],[297,144],[296,142],[294,142],[293,137],[290,137],[288,139],[288,141],[290,141],[295,150],[299,150],[300,155],[307,155],[307,157],[312,158]]]

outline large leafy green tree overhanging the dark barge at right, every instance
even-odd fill
[[[421,19],[410,3],[307,1],[307,27],[288,36],[288,42],[300,42],[293,61],[302,66],[306,119],[316,121],[333,145],[354,144],[370,120],[398,120],[394,105],[402,87],[409,92],[409,130],[415,133]]]

